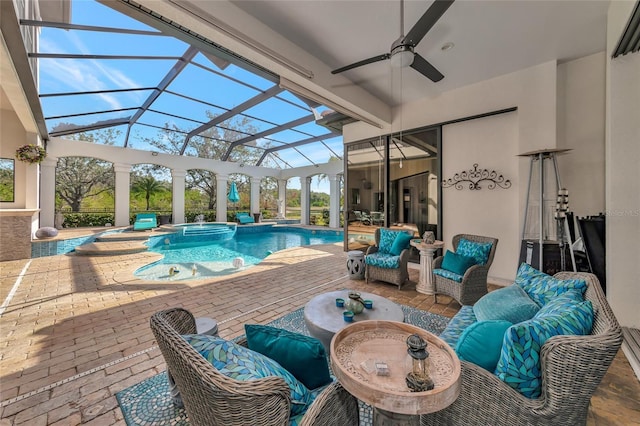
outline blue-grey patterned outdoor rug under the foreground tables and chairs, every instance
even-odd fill
[[[401,305],[405,322],[439,335],[449,318],[410,306]],[[304,323],[303,309],[299,308],[268,325],[309,335]],[[187,413],[175,408],[169,393],[166,373],[157,374],[136,385],[116,393],[116,399],[128,426],[187,426]],[[372,424],[371,407],[360,403],[360,425]]]

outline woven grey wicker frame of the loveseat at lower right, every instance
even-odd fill
[[[492,373],[462,361],[462,389],[449,407],[423,415],[431,425],[584,425],[591,395],[622,344],[622,332],[595,275],[559,272],[559,279],[582,278],[593,304],[588,336],[555,336],[540,355],[542,395],[529,399]]]

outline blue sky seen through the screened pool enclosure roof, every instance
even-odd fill
[[[156,31],[92,0],[73,1],[72,23]],[[188,48],[189,45],[186,43],[165,36],[54,28],[42,28],[40,39],[41,53],[180,57]],[[39,61],[41,94],[156,87],[176,64],[176,59],[173,58],[158,60],[41,58]],[[188,131],[209,120],[206,115],[207,111],[214,114],[222,113],[277,84],[235,65],[229,65],[222,70],[202,53],[198,53],[193,62],[198,65],[188,65],[169,85],[168,90],[201,100],[206,104],[165,92],[153,103],[151,109],[172,114],[172,116],[147,111],[140,118],[139,123],[163,127],[166,122],[169,122]],[[231,77],[231,80],[217,75],[216,72]],[[48,120],[47,126],[51,130],[59,122],[86,125],[96,121],[128,117],[135,112],[134,108],[140,106],[151,93],[151,90],[136,90],[43,97],[41,99],[47,117],[129,109]],[[282,92],[278,98],[271,98],[267,102],[245,111],[245,114],[265,121],[253,120],[252,124],[257,128],[257,131],[284,124],[310,113],[309,108],[300,99],[288,92]],[[117,128],[122,131],[123,135],[126,133],[126,126]],[[271,146],[279,146],[282,143],[307,139],[328,132],[327,129],[315,125],[313,122],[296,127],[296,130],[298,132],[287,130],[270,135],[268,138],[272,139]],[[142,138],[155,137],[157,133],[158,129],[156,128],[140,124],[134,125],[131,130],[129,146],[137,149],[150,149],[142,141]],[[267,141],[258,140],[256,145],[262,146],[265,142]],[[316,142],[304,145],[298,151],[281,150],[277,154],[279,159],[269,158],[267,161],[271,161],[265,165],[286,168],[324,163],[332,155],[337,154],[340,157],[343,155],[342,137],[326,139],[324,144]]]

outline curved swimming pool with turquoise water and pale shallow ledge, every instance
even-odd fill
[[[164,258],[143,266],[134,275],[162,281],[221,276],[256,265],[276,251],[343,241],[342,231],[287,226],[238,227],[233,234],[233,237],[214,236],[212,239],[209,235],[198,234],[185,237],[178,231],[170,236],[153,237],[149,241],[149,251],[160,253]],[[234,260],[238,258],[242,259],[241,267],[237,267],[237,260],[234,266]]]

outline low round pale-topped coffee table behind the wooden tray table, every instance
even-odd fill
[[[361,314],[354,315],[354,323],[366,320],[404,321],[404,311],[400,305],[376,294],[360,292],[360,296],[373,301],[373,309],[365,309]],[[337,298],[348,300],[349,290],[319,294],[309,300],[304,307],[304,322],[309,334],[322,342],[327,353],[329,353],[333,335],[350,324],[342,318],[345,308],[336,306]]]

